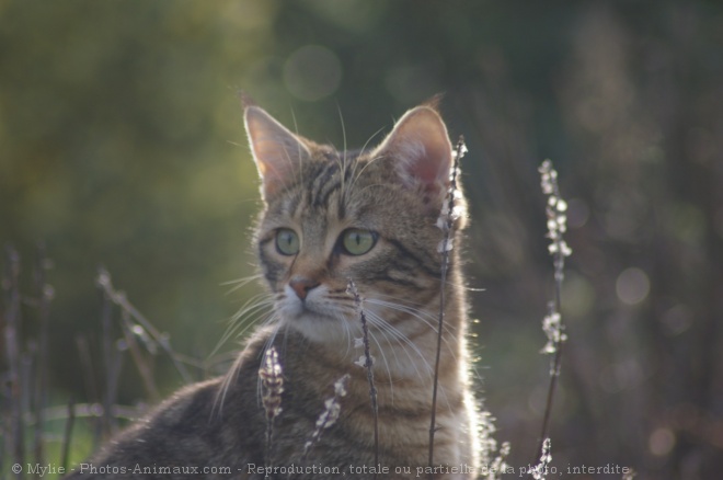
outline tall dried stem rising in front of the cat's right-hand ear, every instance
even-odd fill
[[[447,288],[447,271],[449,267],[449,251],[452,229],[455,227],[455,195],[457,192],[457,174],[459,171],[459,161],[464,156],[467,147],[464,146],[464,138],[459,137],[457,147],[455,148],[455,158],[449,178],[449,192],[447,194],[447,204],[443,207],[440,220],[438,224],[444,232],[441,243],[441,275],[439,286],[439,317],[437,324],[437,351],[435,354],[434,363],[434,384],[432,387],[432,413],[429,418],[429,479],[434,478],[434,434],[437,430],[437,387],[439,382],[439,359],[441,357],[441,333],[445,324],[445,290]]]

